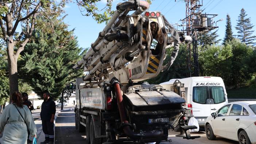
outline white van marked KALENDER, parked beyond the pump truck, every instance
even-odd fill
[[[177,79],[159,85],[167,88],[175,80]],[[189,77],[178,80],[184,83],[187,103],[185,107],[191,109],[200,127],[205,127],[205,120],[211,113],[228,104],[225,85],[220,77]]]

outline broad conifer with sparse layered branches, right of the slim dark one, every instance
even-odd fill
[[[237,38],[241,40],[241,42],[244,42],[245,44],[255,44],[253,42],[256,39],[256,36],[252,36],[254,27],[251,24],[251,18],[246,18],[247,14],[244,11],[244,8],[241,9],[241,13],[238,16],[236,29],[238,30]]]

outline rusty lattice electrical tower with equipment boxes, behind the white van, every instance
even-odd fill
[[[202,13],[201,7],[203,6],[203,0],[175,0],[183,1],[186,3],[186,17],[181,20],[183,33],[189,35],[193,38],[192,41],[192,54],[191,54],[191,44],[187,44],[187,70],[189,73],[187,77],[199,76],[199,63],[198,63],[198,47],[197,47],[197,37],[198,35],[209,32],[215,28],[213,26],[213,18],[217,15]],[[186,28],[184,29],[184,26]],[[191,58],[193,57],[193,62]],[[191,73],[191,68],[194,67],[194,72]]]

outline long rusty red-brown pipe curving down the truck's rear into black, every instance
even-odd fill
[[[127,120],[127,116],[125,114],[125,108],[124,108],[124,102],[123,102],[123,96],[120,89],[120,83],[117,81],[117,79],[112,79],[111,81],[112,85],[115,87],[116,91],[116,99],[117,99],[117,106],[119,109],[119,114],[121,118],[121,122],[123,123],[123,131],[124,133],[133,140],[141,140],[141,139],[157,139],[163,136],[163,131],[145,131],[145,132],[133,132],[130,124]]]

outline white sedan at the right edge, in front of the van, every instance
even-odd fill
[[[216,136],[256,144],[256,101],[231,102],[207,117],[205,132],[209,140]]]

